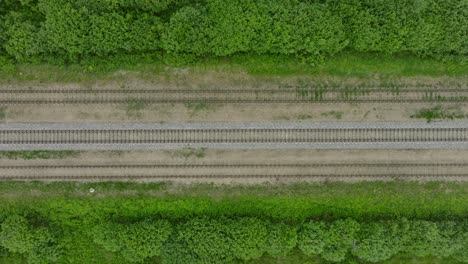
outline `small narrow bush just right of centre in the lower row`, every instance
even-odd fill
[[[285,223],[272,223],[268,228],[266,252],[273,257],[288,255],[297,245],[297,228]]]

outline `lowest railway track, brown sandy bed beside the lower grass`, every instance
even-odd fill
[[[99,164],[0,166],[2,180],[456,179],[468,163]]]

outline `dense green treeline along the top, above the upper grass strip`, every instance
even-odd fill
[[[17,61],[168,52],[344,50],[468,54],[466,0],[3,0],[0,52]]]

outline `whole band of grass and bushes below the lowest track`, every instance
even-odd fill
[[[2,182],[0,261],[242,263],[302,252],[468,262],[466,187]]]

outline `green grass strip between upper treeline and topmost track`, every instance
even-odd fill
[[[468,65],[457,60],[440,61],[413,55],[377,53],[340,53],[317,66],[294,56],[239,54],[231,57],[208,57],[170,54],[115,55],[84,59],[81,64],[57,66],[47,63],[18,64],[0,70],[3,81],[86,82],[115,80],[114,73],[124,70],[142,78],[173,76],[174,69],[186,68],[198,74],[206,72],[247,72],[256,76],[331,76],[398,79],[410,76],[467,77]],[[126,76],[120,78],[125,79]]]

